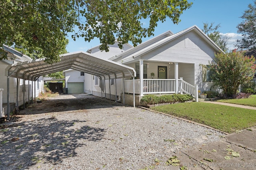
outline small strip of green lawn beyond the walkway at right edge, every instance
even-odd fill
[[[250,98],[247,98],[247,99],[222,99],[216,102],[232,103],[232,104],[240,104],[240,105],[256,107],[256,95],[251,95]]]

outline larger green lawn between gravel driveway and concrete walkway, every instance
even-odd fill
[[[153,110],[208,125],[227,133],[256,125],[256,111],[203,102],[169,104]]]

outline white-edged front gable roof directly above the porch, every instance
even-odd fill
[[[123,64],[124,63],[127,63],[129,61],[133,61],[135,60],[136,57],[139,57],[140,55],[143,55],[145,53],[148,53],[149,51],[152,51],[153,49],[159,47],[160,45],[163,45],[165,43],[168,43],[170,41],[172,41],[173,39],[181,36],[181,35],[184,35],[185,33],[188,33],[189,31],[196,31],[196,33],[198,33],[198,35],[204,39],[211,47],[213,47],[216,51],[222,51],[222,49],[220,49],[220,47],[218,47],[218,45],[216,45],[216,43],[214,43],[199,27],[197,27],[196,25],[192,26],[192,27],[189,27],[187,29],[184,29],[183,31],[180,31],[178,33],[175,33],[169,37],[166,37],[164,39],[161,39],[160,41],[157,41],[156,43],[146,47],[146,48],[143,48],[141,49],[140,51],[134,51],[135,53],[131,53],[129,56],[127,56],[126,58],[123,58],[122,60],[120,59],[118,61],[118,63],[122,62]],[[223,51],[222,51],[223,52]]]

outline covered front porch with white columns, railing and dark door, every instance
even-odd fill
[[[184,75],[187,80],[192,82],[194,80],[194,64],[180,63],[181,68],[179,68],[179,63],[149,61],[145,63],[147,64],[140,60],[139,68],[138,64],[137,68],[135,68],[139,79],[124,80],[125,93],[134,92],[139,96],[146,94],[190,94],[198,102],[198,85],[186,82],[183,77],[178,78],[179,75]],[[155,73],[151,74],[150,72]],[[166,76],[161,78],[164,75]],[[174,78],[169,78],[172,75],[174,75]],[[148,78],[150,76],[151,78]],[[154,78],[155,76],[158,78]]]

